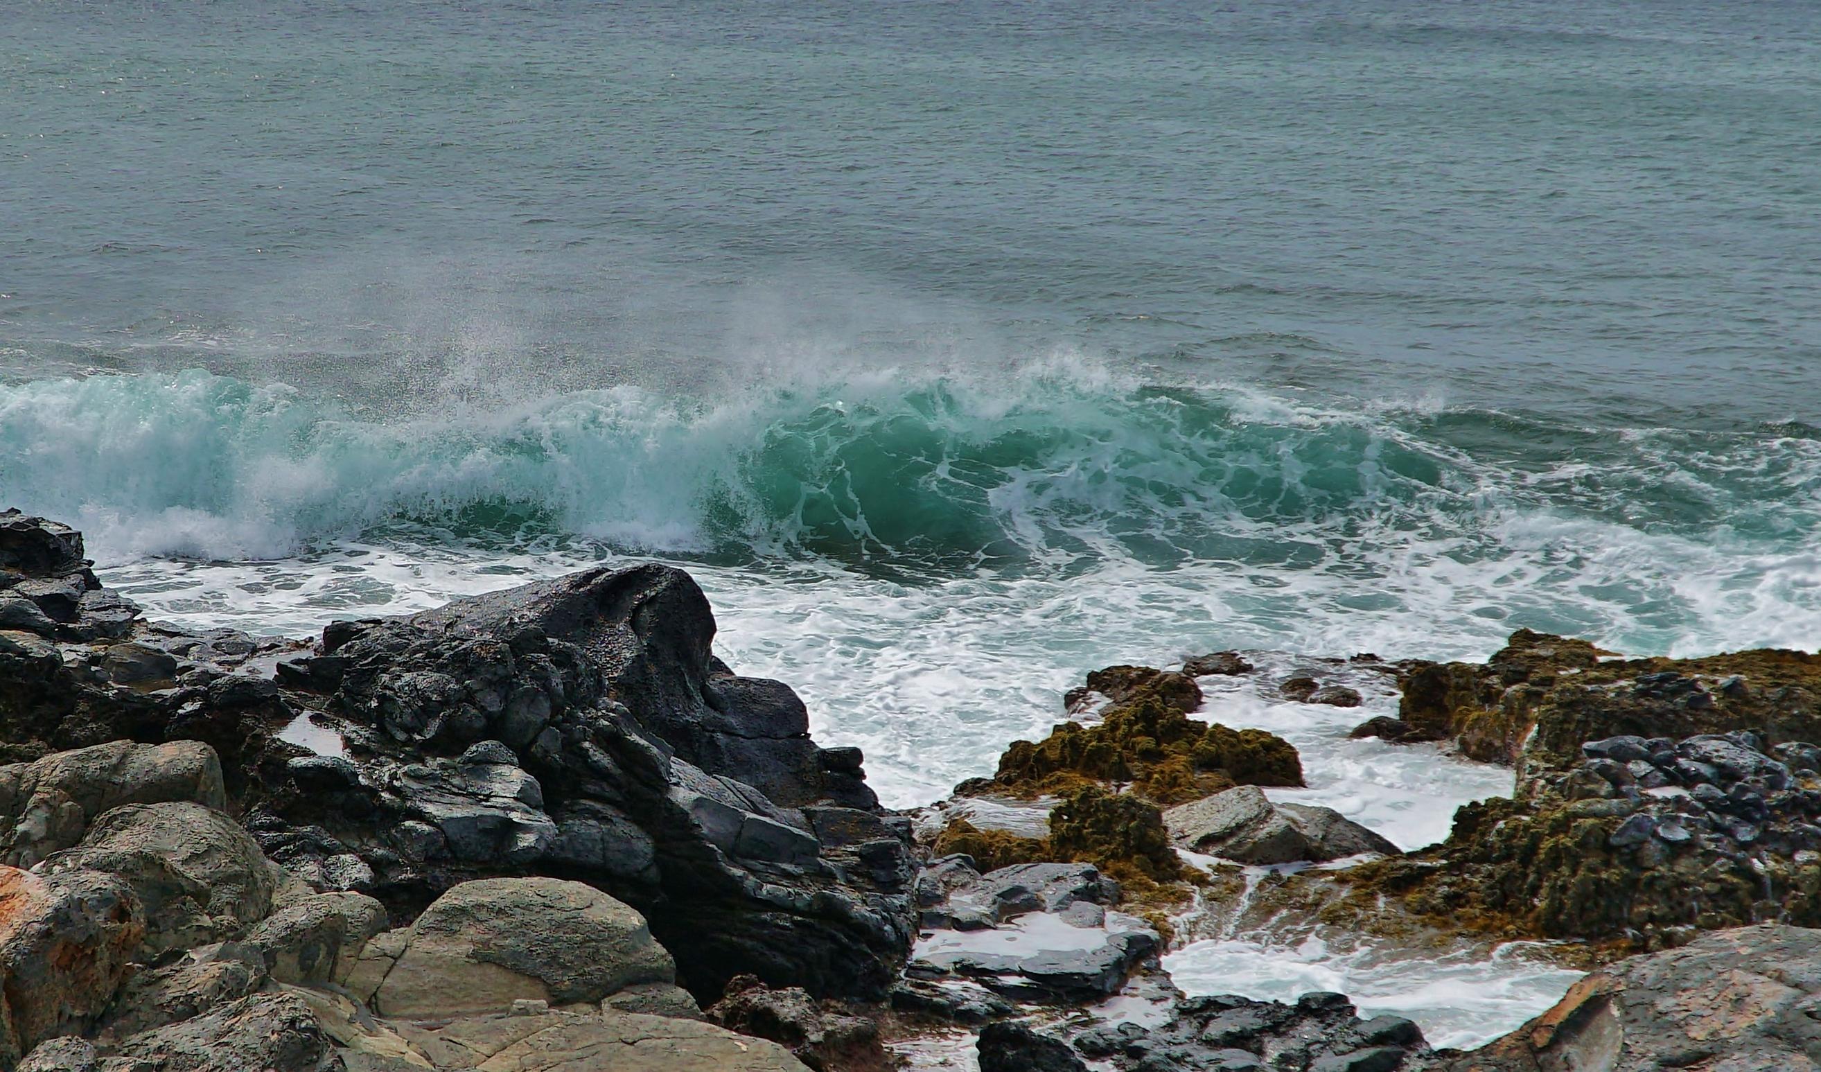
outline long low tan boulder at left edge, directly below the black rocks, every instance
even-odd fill
[[[80,841],[102,812],[160,801],[226,808],[215,750],[200,741],[109,741],[0,766],[0,861],[31,866]]]

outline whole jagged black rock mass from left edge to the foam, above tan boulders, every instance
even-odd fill
[[[0,619],[0,759],[97,748],[80,777],[0,768],[13,859],[87,852],[113,804],[226,804],[291,875],[401,921],[470,879],[595,885],[708,999],[738,972],[883,997],[903,963],[909,824],[878,808],[858,750],[816,746],[787,686],[714,659],[679,570],[588,570],[302,644],[146,622],[95,581],[80,533],[11,511],[0,590],[18,604]],[[219,779],[168,753],[182,741],[215,750]],[[122,779],[97,792],[109,763]]]

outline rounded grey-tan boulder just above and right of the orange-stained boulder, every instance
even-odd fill
[[[144,906],[148,956],[240,937],[264,919],[277,886],[246,830],[189,801],[106,812],[44,868],[120,875]]]

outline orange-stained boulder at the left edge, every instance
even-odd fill
[[[115,875],[0,866],[0,1067],[106,1010],[142,934],[138,901]]]

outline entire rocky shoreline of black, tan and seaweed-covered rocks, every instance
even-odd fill
[[[1357,733],[1513,768],[1402,854],[1262,792],[1304,783],[1297,748],[1198,684],[1244,653],[1096,672],[900,814],[714,632],[646,564],[189,633],[0,513],[0,1070],[870,1072],[931,1039],[982,1072],[1821,1067],[1821,657],[1519,632],[1260,681],[1333,708],[1360,695],[1324,666],[1395,681]],[[1184,996],[1160,956],[1222,914],[1597,970],[1435,1050],[1340,994]]]

